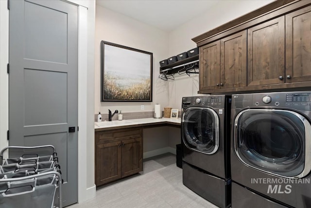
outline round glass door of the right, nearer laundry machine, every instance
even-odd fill
[[[311,170],[311,125],[288,110],[247,109],[234,121],[234,149],[246,166],[285,178]]]

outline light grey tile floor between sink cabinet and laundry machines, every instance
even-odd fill
[[[143,171],[97,189],[96,196],[68,208],[217,208],[182,183],[172,153],[149,158]]]

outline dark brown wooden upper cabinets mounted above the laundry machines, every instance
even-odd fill
[[[276,0],[192,38],[200,94],[309,90],[311,1]]]

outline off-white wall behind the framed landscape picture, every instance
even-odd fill
[[[95,112],[153,111],[154,104],[168,105],[167,82],[157,78],[159,61],[168,57],[168,33],[148,24],[96,5],[95,24]],[[153,102],[101,102],[101,41],[108,41],[153,53]],[[140,110],[140,105],[144,110]]]

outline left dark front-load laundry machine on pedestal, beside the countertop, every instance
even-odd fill
[[[231,96],[182,98],[183,183],[218,207],[230,206]]]

